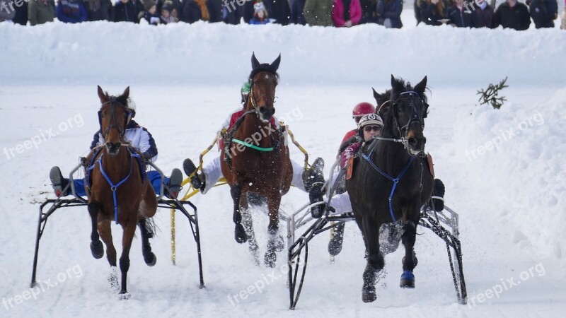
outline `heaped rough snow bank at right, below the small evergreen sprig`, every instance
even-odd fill
[[[484,202],[473,212],[474,218],[495,215],[500,222],[493,228],[507,233],[503,237],[508,241],[497,244],[532,245],[562,264],[566,263],[564,118],[566,89],[541,103],[509,102],[501,110],[477,107],[454,123],[454,160],[461,164],[461,182],[475,184]]]

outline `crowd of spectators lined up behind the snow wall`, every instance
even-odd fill
[[[57,1],[57,2],[55,2]],[[491,1],[488,3],[488,1]],[[415,0],[417,24],[458,28],[554,28],[558,1]],[[566,0],[565,5],[566,5]],[[0,0],[0,22],[37,25],[57,18],[64,23],[108,20],[151,25],[195,23],[301,24],[350,28],[376,23],[402,28],[403,0]],[[566,29],[566,6],[560,28]]]

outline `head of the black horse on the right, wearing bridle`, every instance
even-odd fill
[[[412,87],[402,79],[391,75],[391,97],[381,103],[379,114],[385,126],[382,136],[391,136],[403,139],[405,149],[410,155],[417,155],[424,151],[424,118],[427,118],[427,96],[424,90],[427,88],[427,76]],[[375,96],[375,95],[374,95]],[[376,97],[377,100],[377,97]],[[378,100],[379,105],[379,100]]]

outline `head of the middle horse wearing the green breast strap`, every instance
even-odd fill
[[[263,122],[269,122],[273,114],[275,114],[275,87],[279,81],[279,62],[281,54],[273,61],[272,64],[260,64],[255,54],[252,54],[252,72],[249,81],[251,84],[250,95],[246,110],[255,109],[258,117]]]

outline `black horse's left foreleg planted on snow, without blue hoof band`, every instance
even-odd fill
[[[366,242],[367,264],[362,278],[364,285],[362,287],[362,301],[373,302],[377,298],[376,282],[379,272],[385,266],[383,254],[379,251],[379,223],[373,218],[365,216],[362,220],[362,228],[364,240]],[[377,275],[376,275],[377,273]]]

